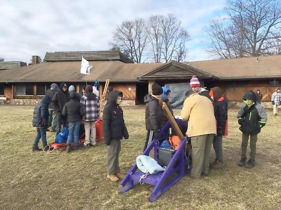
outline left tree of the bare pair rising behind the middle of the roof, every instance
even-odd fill
[[[144,19],[136,18],[131,21],[123,21],[117,27],[113,35],[114,42],[110,45],[120,49],[125,54],[129,54],[129,57],[135,63],[141,63],[143,52],[148,44],[147,37]]]

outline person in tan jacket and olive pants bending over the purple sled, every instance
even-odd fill
[[[182,120],[188,121],[187,136],[191,138],[192,170],[190,176],[196,179],[208,175],[209,156],[213,138],[217,135],[216,119],[212,102],[189,89],[181,110]]]

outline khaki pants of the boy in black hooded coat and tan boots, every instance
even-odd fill
[[[120,172],[119,167],[119,153],[121,151],[120,139],[112,139],[110,145],[107,146],[107,164],[106,170],[107,174],[114,175]]]

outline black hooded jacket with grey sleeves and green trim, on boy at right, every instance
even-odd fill
[[[267,121],[265,108],[256,102],[256,96],[252,99],[254,103],[248,105],[246,102],[246,94],[255,94],[253,91],[248,91],[243,96],[243,104],[237,114],[238,123],[241,125],[240,130],[247,135],[255,135],[261,132],[261,128]]]

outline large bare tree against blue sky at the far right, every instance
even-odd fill
[[[228,0],[229,19],[208,27],[208,51],[221,58],[272,54],[280,43],[281,6],[278,0]]]

